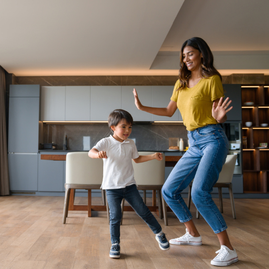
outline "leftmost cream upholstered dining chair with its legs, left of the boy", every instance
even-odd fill
[[[74,205],[75,190],[88,190],[88,217],[91,217],[92,203],[91,191],[99,190],[103,180],[103,160],[93,159],[88,156],[88,152],[69,152],[66,155],[65,172],[65,197],[63,207],[63,224],[68,215],[68,208],[72,210],[83,210],[85,206]],[[74,190],[70,204],[70,192]],[[104,190],[102,190],[103,204],[105,205]],[[70,209],[71,210],[71,209]],[[84,209],[85,210],[85,209]]]

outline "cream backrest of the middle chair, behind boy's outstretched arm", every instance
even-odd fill
[[[150,155],[154,152],[139,152],[139,155]],[[135,163],[134,178],[138,186],[141,185],[163,185],[164,184],[164,171],[165,171],[165,155],[163,159],[150,160],[142,163]]]

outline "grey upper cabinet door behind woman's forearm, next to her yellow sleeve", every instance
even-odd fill
[[[170,102],[173,94],[174,86],[152,86],[152,107],[166,108]],[[179,112],[175,111],[174,115],[170,117],[152,115],[153,121],[178,121]]]

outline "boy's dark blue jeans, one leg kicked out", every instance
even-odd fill
[[[153,233],[158,234],[161,232],[160,224],[144,204],[135,184],[123,189],[106,190],[106,194],[110,212],[110,236],[112,244],[120,243],[121,203],[123,198],[132,206],[142,220],[147,223]]]

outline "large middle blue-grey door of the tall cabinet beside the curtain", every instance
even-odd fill
[[[9,98],[8,152],[38,152],[39,97]]]

